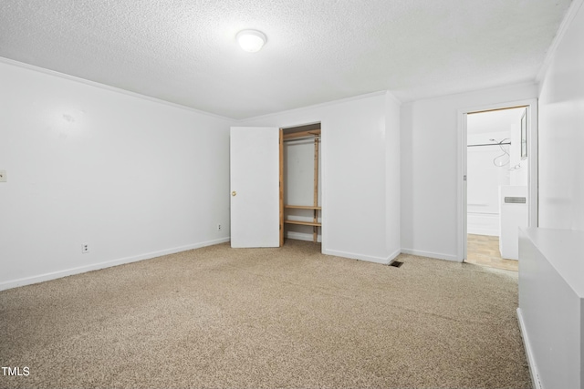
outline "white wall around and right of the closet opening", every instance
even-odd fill
[[[392,116],[398,107],[391,94],[376,93],[240,122],[273,127],[321,123],[326,254],[388,262],[400,253],[399,187],[388,193],[387,186],[388,179],[399,177],[399,165],[392,165],[399,158],[399,118]],[[388,156],[388,150],[394,153]]]

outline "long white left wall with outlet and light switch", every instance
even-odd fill
[[[0,289],[228,241],[233,122],[8,63],[0,85]]]

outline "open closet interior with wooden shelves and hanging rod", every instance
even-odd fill
[[[282,128],[284,241],[322,242],[320,123]]]

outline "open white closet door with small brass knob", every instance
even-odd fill
[[[231,247],[279,247],[279,128],[232,127]]]

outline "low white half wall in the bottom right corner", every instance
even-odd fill
[[[536,389],[584,389],[584,232],[519,234],[519,309]]]

